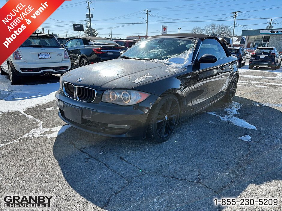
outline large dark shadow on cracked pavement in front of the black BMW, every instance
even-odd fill
[[[164,143],[71,127],[56,138],[53,154],[68,184],[105,210],[222,210],[214,198],[282,180],[281,125],[281,111],[236,96],[179,123]],[[244,197],[279,194],[259,190]]]

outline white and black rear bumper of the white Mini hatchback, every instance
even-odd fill
[[[70,60],[63,60],[58,63],[26,63],[26,62],[12,62],[13,69],[17,76],[33,76],[44,75],[44,73],[64,74],[71,69]],[[60,67],[65,69],[60,70]],[[25,72],[24,69],[32,69],[33,71]]]

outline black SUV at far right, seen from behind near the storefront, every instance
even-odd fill
[[[250,57],[249,69],[253,69],[254,66],[267,66],[271,67],[271,70],[281,67],[282,57],[276,48],[273,47],[260,47],[252,53]]]

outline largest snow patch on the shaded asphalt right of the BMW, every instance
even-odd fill
[[[254,125],[249,124],[244,119],[240,119],[234,116],[235,114],[239,114],[238,110],[241,109],[241,106],[242,104],[233,101],[231,105],[229,105],[227,108],[224,109],[228,113],[228,115],[225,116],[217,115],[215,112],[206,112],[206,113],[214,116],[218,116],[221,120],[231,122],[232,124],[237,125],[239,127],[256,130],[256,127]]]

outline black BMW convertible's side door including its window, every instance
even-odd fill
[[[204,108],[223,93],[226,60],[221,58],[220,51],[224,51],[224,49],[216,39],[208,38],[202,41],[193,64],[192,113]],[[217,57],[217,61],[215,63],[198,63],[197,60],[204,54],[214,55]]]

